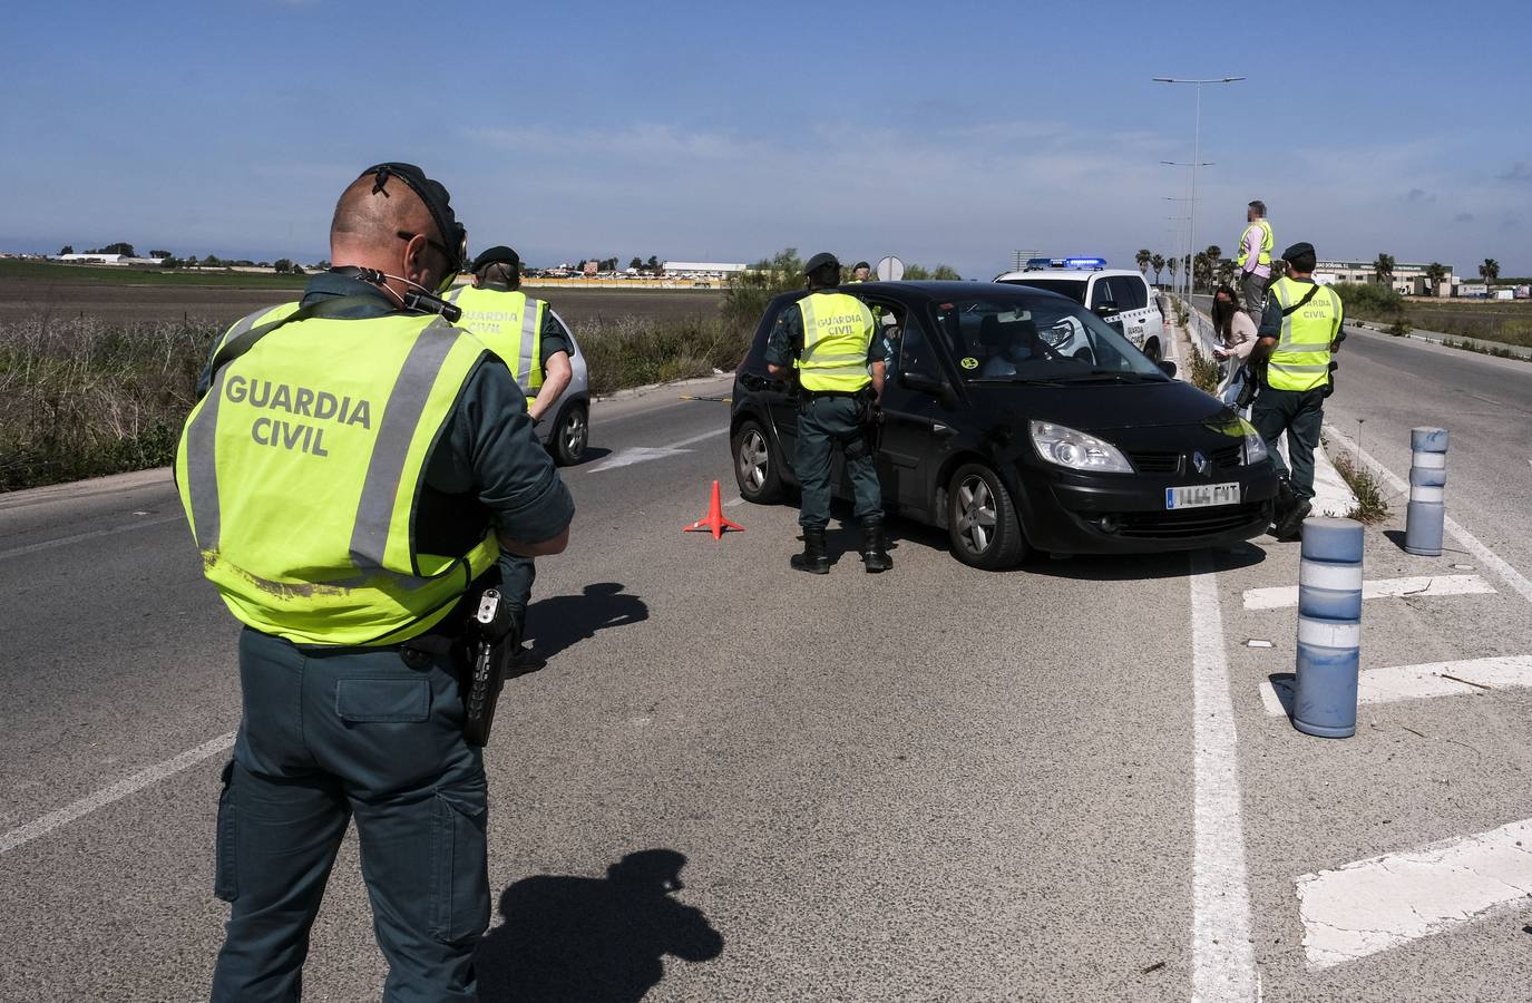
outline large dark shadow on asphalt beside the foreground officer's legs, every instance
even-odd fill
[[[708,962],[723,936],[682,905],[686,858],[630,853],[605,877],[538,874],[506,888],[501,925],[475,965],[484,1003],[637,1003],[665,977],[665,956]]]

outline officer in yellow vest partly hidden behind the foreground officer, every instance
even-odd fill
[[[521,256],[504,245],[492,247],[473,259],[473,285],[458,286],[446,299],[463,311],[458,323],[512,368],[512,375],[527,394],[532,423],[542,421],[570,384],[570,343],[547,302],[521,291]],[[532,557],[501,554],[499,576],[499,593],[510,606],[519,637],[538,567]],[[542,665],[545,662],[530,648],[516,652],[518,669]]]

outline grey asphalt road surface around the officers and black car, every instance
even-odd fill
[[[1399,464],[1393,426],[1451,407],[1422,384],[1503,395],[1446,412],[1452,511],[1532,571],[1514,479],[1532,469],[1492,444],[1532,368],[1439,352],[1356,338],[1333,420],[1354,400],[1367,449]],[[545,988],[593,965],[620,974],[602,1000],[1186,1000],[1221,975],[1221,928],[1193,929],[1219,913],[1207,888],[1249,897],[1267,1000],[1526,997],[1532,908],[1313,971],[1295,879],[1532,815],[1527,691],[1368,707],[1345,743],[1298,735],[1258,697],[1291,669],[1293,611],[1241,599],[1296,582],[1296,545],[1270,539],[1203,557],[1200,586],[1187,556],[984,574],[907,524],[892,573],[852,554],[810,577],[787,568],[786,507],[731,505],[746,531],[719,542],[682,534],[712,479],[737,492],[728,406],[679,395],[726,387],[597,404],[594,455],[565,472],[573,541],[539,562],[532,613],[552,662],[507,688],[486,756],[486,1000],[565,998]],[[1463,560],[1402,554],[1399,519],[1368,533],[1368,577]],[[167,476],[0,496],[0,998],[199,998],[225,914],[211,847],[236,628]],[[1526,602],[1494,585],[1368,603],[1367,662],[1532,652]],[[1223,678],[1209,660],[1233,709],[1221,752],[1193,715],[1193,689]],[[1236,766],[1235,816],[1210,831],[1223,850],[1242,835],[1227,873],[1193,833],[1219,793],[1210,749]],[[605,879],[642,850],[683,854],[685,887]],[[305,998],[377,998],[381,972],[348,839]]]

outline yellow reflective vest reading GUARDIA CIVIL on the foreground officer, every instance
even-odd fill
[[[498,544],[486,531],[466,554],[424,554],[415,516],[432,444],[483,357],[437,317],[309,319],[216,374],[176,484],[204,573],[241,622],[300,645],[388,645],[452,611]]]

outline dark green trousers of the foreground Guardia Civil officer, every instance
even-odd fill
[[[231,911],[213,1001],[299,998],[351,818],[389,965],[383,998],[476,1000],[487,796],[450,666],[415,669],[388,649],[305,651],[247,629],[239,678],[244,718],[218,804],[214,894]]]

